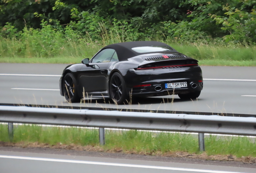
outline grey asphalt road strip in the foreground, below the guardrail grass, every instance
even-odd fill
[[[255,173],[256,166],[139,155],[0,147],[1,173]]]

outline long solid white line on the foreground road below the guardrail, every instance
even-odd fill
[[[165,170],[173,170],[173,171],[190,171],[190,172],[202,172],[202,173],[238,173],[238,172],[215,171],[215,170],[205,170],[205,169],[188,169],[188,168],[132,165],[132,164],[122,164],[122,163],[105,163],[105,162],[94,162],[94,161],[64,160],[64,159],[47,159],[47,158],[37,158],[37,157],[20,157],[20,156],[6,156],[6,155],[0,155],[0,158],[24,159],[24,160],[35,160],[35,161],[54,161],[54,162],[64,162],[64,163],[82,163],[82,164],[91,164],[91,165],[106,165],[106,166],[119,166],[119,167],[165,169]]]

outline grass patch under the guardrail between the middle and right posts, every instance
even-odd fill
[[[152,133],[141,131],[123,131],[122,133],[107,133],[107,148],[121,148],[124,151],[136,153],[166,153],[169,151],[198,151],[198,141],[191,135],[178,133]]]

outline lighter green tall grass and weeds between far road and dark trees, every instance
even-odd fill
[[[88,19],[91,19],[91,23],[95,20],[93,17],[93,15],[89,15]],[[85,57],[91,58],[105,45],[134,40],[159,40],[198,60],[246,61],[246,66],[253,66],[253,63],[250,65],[250,61],[256,61],[255,46],[234,42],[227,44],[221,38],[213,40],[211,37],[206,37],[204,32],[192,32],[186,24],[165,22],[162,27],[165,27],[169,33],[165,34],[164,39],[161,39],[160,36],[154,39],[154,35],[150,31],[145,34],[136,32],[138,28],[132,27],[132,24],[125,20],[121,22],[115,19],[107,24],[94,22],[95,26],[99,25],[99,28],[91,27],[90,30],[84,31],[85,34],[76,28],[84,23],[73,22],[63,27],[59,21],[51,21],[42,20],[41,29],[25,27],[19,32],[14,26],[6,24],[0,35],[0,61],[79,63]],[[55,25],[51,25],[52,23]],[[14,59],[9,60],[8,58]],[[52,60],[32,60],[32,58],[52,58]],[[211,62],[211,64],[213,63]],[[219,63],[219,65],[225,64]]]

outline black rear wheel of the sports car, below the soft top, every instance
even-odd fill
[[[115,72],[109,82],[110,98],[118,105],[124,104],[127,98],[126,86],[122,75]]]

